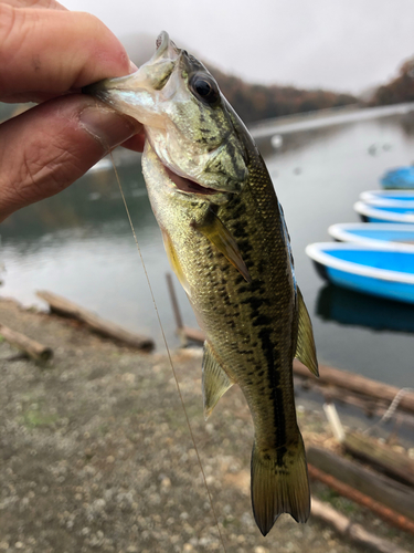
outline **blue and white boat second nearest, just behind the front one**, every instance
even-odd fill
[[[357,242],[365,246],[414,250],[414,225],[390,222],[343,222],[331,225],[329,234],[338,242]]]

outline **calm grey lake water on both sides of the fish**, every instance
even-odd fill
[[[414,306],[327,286],[305,254],[329,240],[327,228],[358,221],[360,192],[378,188],[390,167],[414,161],[414,117],[394,114],[318,128],[283,127],[283,145],[259,138],[284,207],[299,286],[312,317],[319,362],[414,387]],[[309,125],[307,125],[309,126]],[[124,155],[119,174],[170,346],[178,345],[164,274],[170,271],[150,210],[139,156]],[[113,170],[89,173],[63,194],[10,217],[0,228],[0,288],[24,305],[45,305],[49,290],[124,326],[161,334]],[[177,281],[176,281],[177,282]],[[195,317],[177,293],[187,325]]]

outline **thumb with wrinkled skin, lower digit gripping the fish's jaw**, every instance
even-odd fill
[[[141,131],[84,95],[60,97],[0,125],[0,221],[53,196]]]

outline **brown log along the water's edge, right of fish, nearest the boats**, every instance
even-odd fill
[[[305,378],[315,378],[305,365],[297,359],[294,361],[294,374],[304,376]],[[319,365],[320,386],[335,385],[348,389],[355,394],[363,394],[371,398],[382,399],[391,404],[399,393],[399,388],[389,384],[371,380],[364,376],[360,376],[348,371],[339,371],[338,368]],[[414,393],[407,392],[399,403],[399,408],[414,413]]]

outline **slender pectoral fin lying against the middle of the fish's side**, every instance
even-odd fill
[[[252,282],[236,241],[214,211],[210,210],[205,220],[201,223],[194,223],[194,228],[223,253],[247,282]]]

